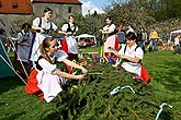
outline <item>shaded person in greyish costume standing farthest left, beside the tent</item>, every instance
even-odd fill
[[[18,55],[16,60],[21,60],[24,63],[29,62],[29,55],[31,50],[33,34],[30,32],[31,25],[29,23],[24,23],[22,25],[22,31],[18,33]]]

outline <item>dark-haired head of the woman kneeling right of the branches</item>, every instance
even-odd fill
[[[136,35],[134,32],[127,33],[126,43],[127,43],[128,47],[133,46],[136,43]]]

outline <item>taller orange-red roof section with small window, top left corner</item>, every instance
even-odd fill
[[[0,14],[32,14],[31,0],[0,0]]]

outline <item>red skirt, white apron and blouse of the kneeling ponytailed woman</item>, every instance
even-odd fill
[[[50,59],[54,63],[55,61],[60,62],[67,57],[65,51],[58,50]],[[36,69],[30,74],[25,92],[27,94],[35,94],[47,103],[53,100],[63,91],[61,86],[66,83],[64,77],[55,74],[56,69],[56,64],[49,63],[44,58],[38,59]]]

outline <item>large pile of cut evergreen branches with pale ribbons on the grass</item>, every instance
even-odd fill
[[[160,110],[149,84],[134,80],[123,69],[111,64],[88,63],[84,81],[69,80],[56,99],[54,109],[42,113],[43,120],[154,120]],[[77,73],[80,71],[77,71]],[[114,94],[113,89],[118,87]],[[125,87],[129,86],[129,87]],[[123,88],[125,87],[125,88]],[[179,113],[163,107],[159,120],[179,119]]]

